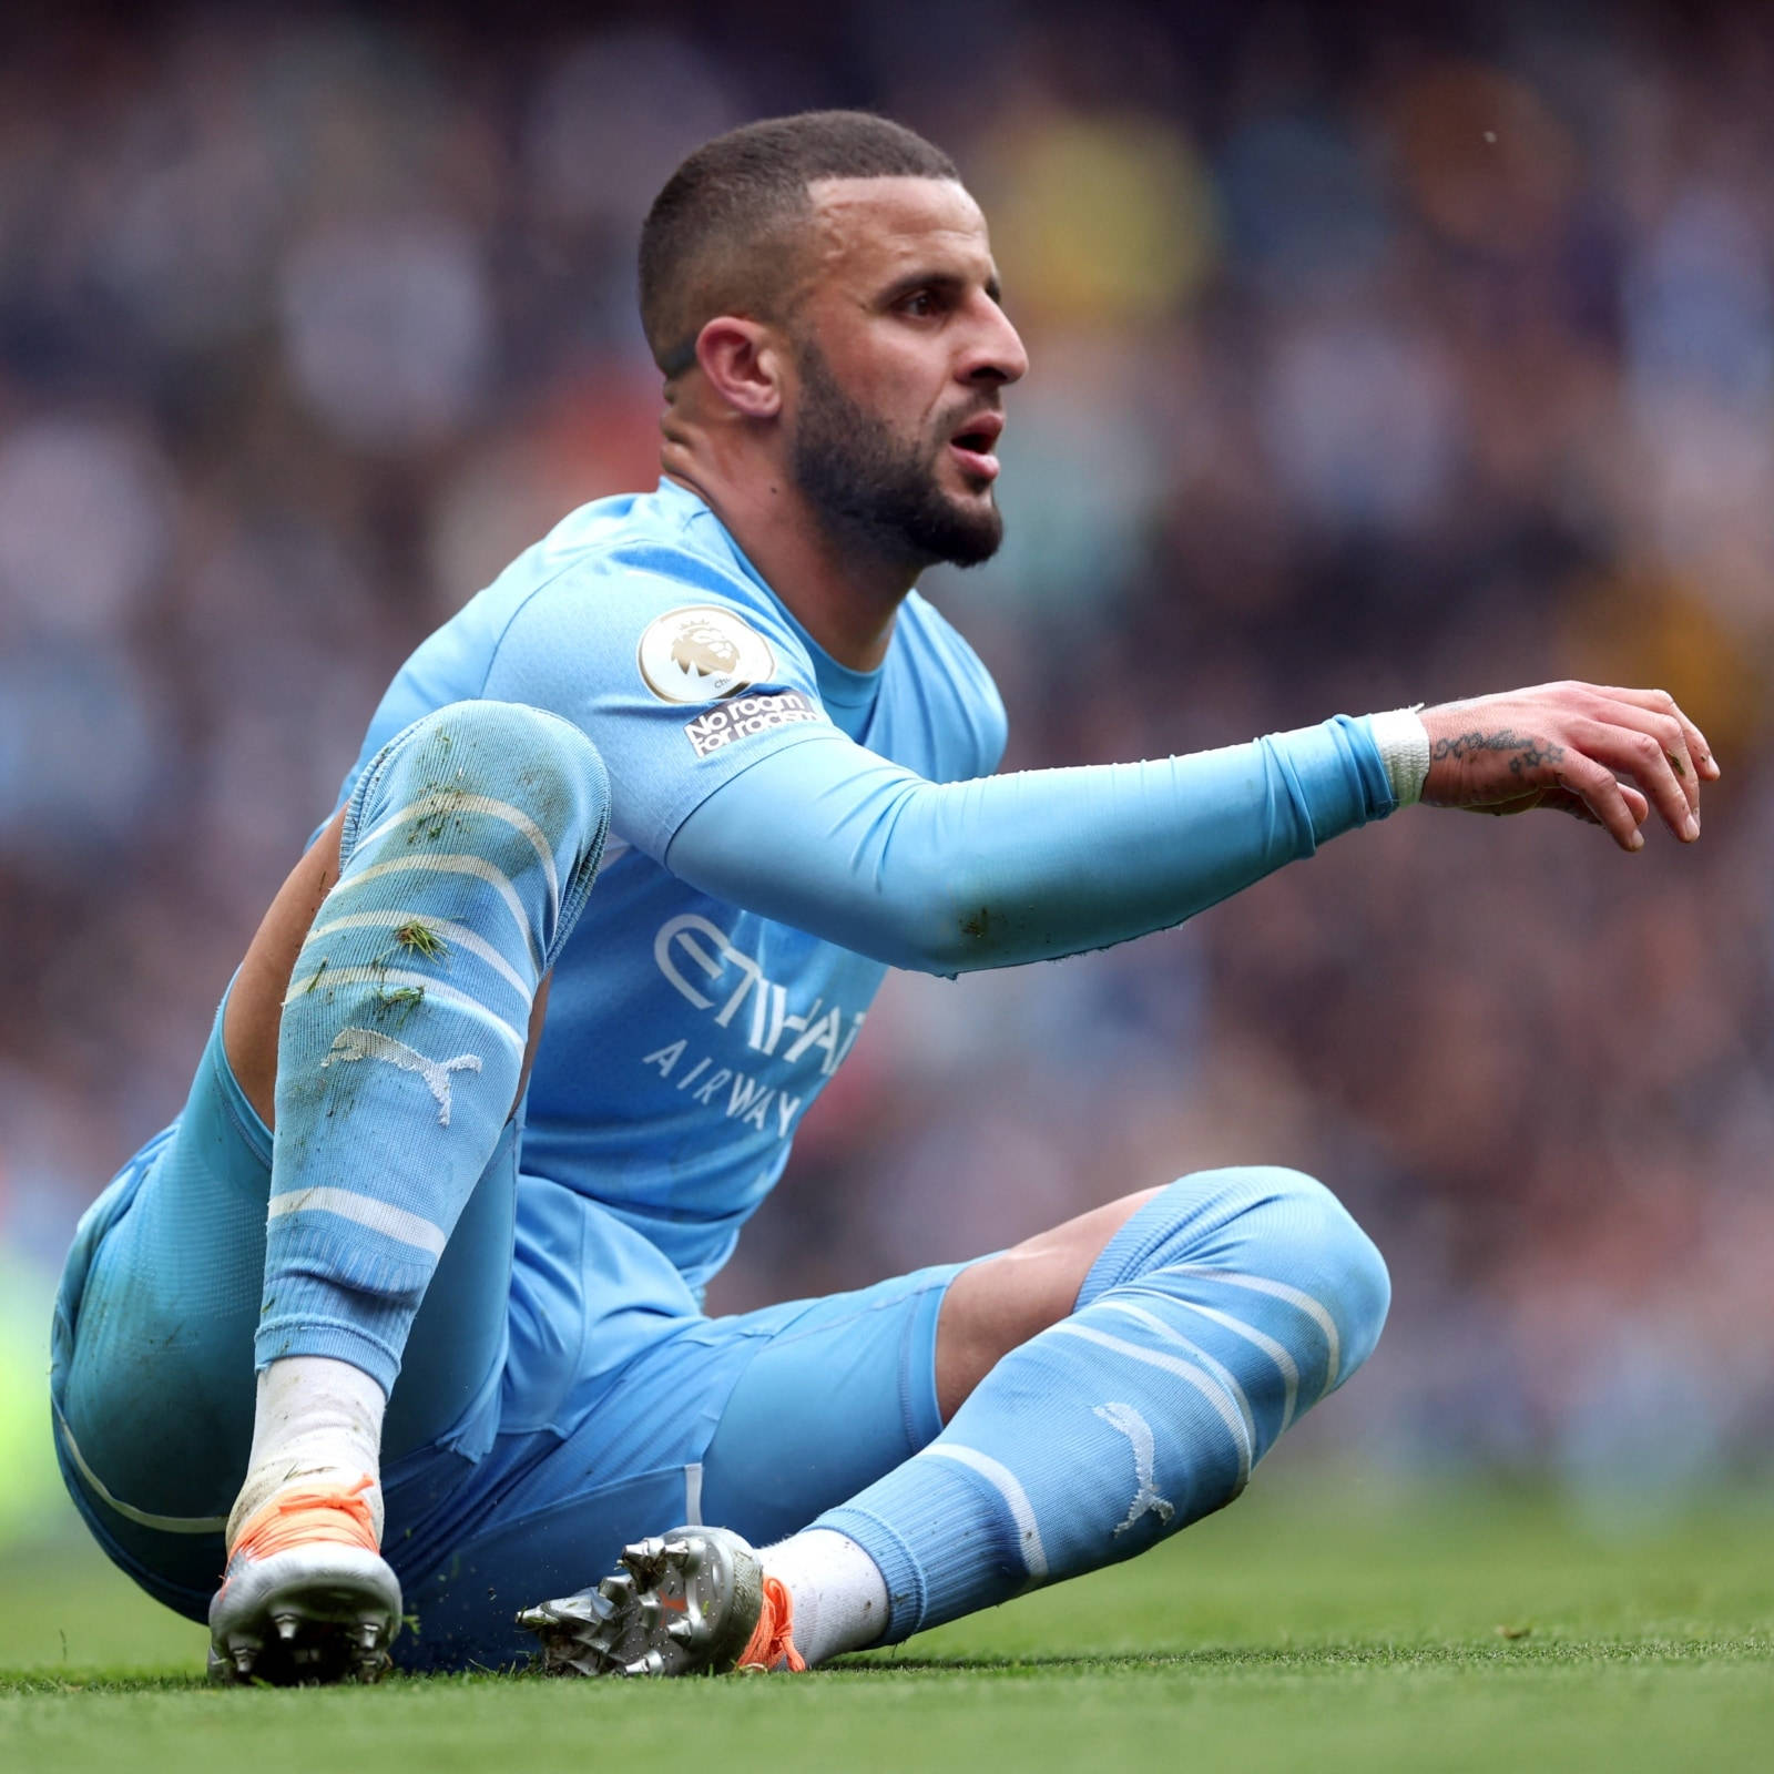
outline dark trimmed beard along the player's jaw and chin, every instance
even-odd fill
[[[1004,541],[1004,516],[986,498],[963,506],[937,484],[937,451],[896,436],[837,385],[814,344],[797,353],[800,410],[789,474],[825,529],[878,559],[924,568],[979,566]]]

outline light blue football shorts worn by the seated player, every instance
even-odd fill
[[[202,1620],[252,1442],[271,1139],[222,1020],[184,1112],[82,1221],[55,1306],[67,1488],[110,1558]],[[383,1550],[408,1668],[498,1666],[513,1614],[585,1588],[623,1543],[720,1522],[793,1533],[942,1426],[937,1315],[965,1265],[708,1318],[688,1288],[607,1299],[637,1233],[520,1169],[511,1125],[451,1236],[383,1435]],[[543,1226],[546,1245],[518,1229]],[[538,1194],[541,1192],[541,1194]],[[532,1208],[536,1212],[532,1212]],[[651,1249],[651,1247],[649,1247]]]

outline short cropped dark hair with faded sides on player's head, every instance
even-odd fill
[[[717,314],[781,319],[816,179],[960,179],[954,161],[869,112],[802,112],[704,142],[640,227],[640,325],[665,378]]]

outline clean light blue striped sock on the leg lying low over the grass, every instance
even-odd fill
[[[883,1643],[1132,1558],[1244,1490],[1368,1359],[1389,1297],[1378,1251],[1311,1178],[1185,1176],[1116,1233],[1070,1318],[812,1526],[880,1566]]]

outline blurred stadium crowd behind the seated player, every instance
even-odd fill
[[[385,679],[651,484],[646,202],[809,105],[956,154],[1034,357],[1009,545],[926,587],[1011,766],[1588,674],[1676,690],[1726,781],[1692,853],[1421,812],[1132,947],[894,981],[711,1304],[1290,1162],[1396,1304],[1283,1460],[1598,1510],[1767,1465],[1774,25],[1439,12],[9,11],[0,1540],[62,1520],[73,1222],[176,1112]]]

